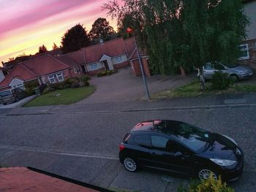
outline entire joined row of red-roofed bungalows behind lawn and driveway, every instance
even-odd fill
[[[148,57],[141,55],[146,75]],[[84,47],[65,55],[39,55],[20,62],[0,83],[0,91],[24,88],[24,82],[37,80],[39,85],[64,81],[67,77],[94,75],[103,70],[132,66],[136,76],[141,75],[135,39],[113,39],[97,45]]]

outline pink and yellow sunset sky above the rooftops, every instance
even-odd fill
[[[86,31],[97,18],[107,18],[102,4],[108,0],[0,0],[0,61],[17,55],[37,53],[53,42],[60,45],[61,37],[77,23]],[[116,28],[116,21],[110,20]],[[1,66],[1,64],[0,64]]]

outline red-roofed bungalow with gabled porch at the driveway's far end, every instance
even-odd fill
[[[94,75],[103,70],[119,69],[129,64],[135,70],[136,76],[141,74],[134,38],[117,38],[108,42],[100,42],[67,55],[81,64],[86,74]],[[148,57],[142,55],[143,66],[149,76],[147,59]]]

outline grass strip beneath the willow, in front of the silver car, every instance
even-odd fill
[[[179,88],[163,91],[160,93],[152,94],[151,99],[174,99],[174,98],[184,98],[184,97],[195,97],[203,96],[206,94],[219,94],[219,93],[250,93],[256,92],[256,84],[245,84],[245,83],[235,83],[231,85],[225,91],[216,91],[211,89],[211,82],[206,82],[205,91],[200,91],[200,82],[195,80],[194,82],[189,82],[187,85],[183,85]]]

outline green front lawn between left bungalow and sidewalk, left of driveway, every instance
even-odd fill
[[[37,96],[35,99],[25,104],[23,107],[45,106],[45,105],[59,105],[72,104],[85,99],[94,93],[95,88],[92,86],[82,88],[66,88],[56,90],[50,93]]]

